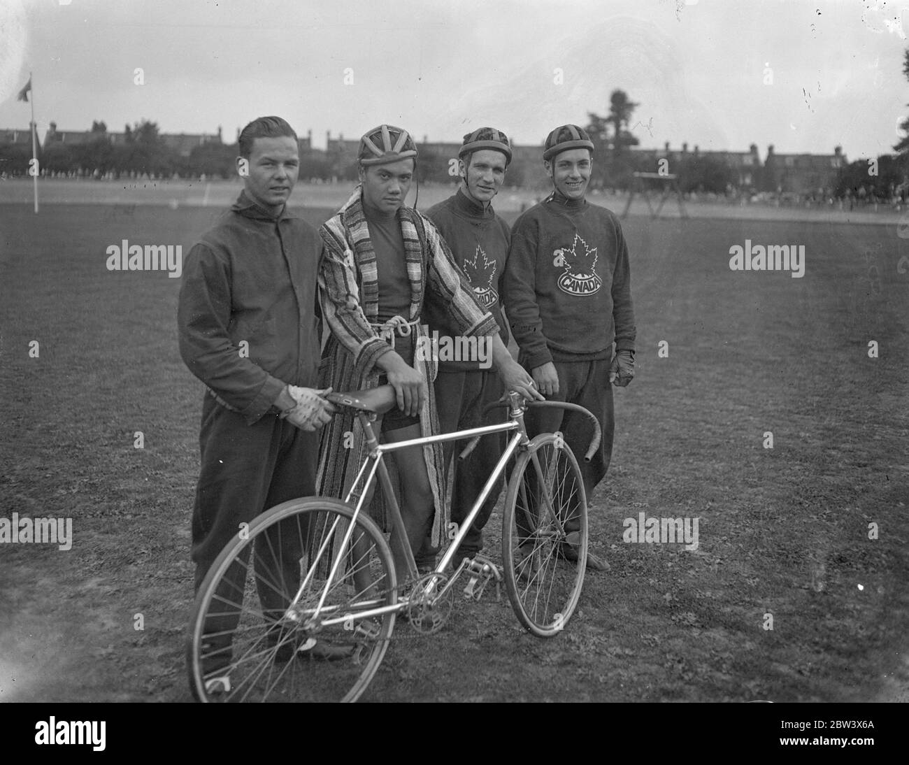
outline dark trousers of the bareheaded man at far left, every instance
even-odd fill
[[[193,510],[192,560],[195,589],[241,523],[281,502],[315,494],[319,453],[318,433],[303,432],[275,414],[266,413],[247,425],[244,418],[225,409],[210,395],[202,407],[199,434],[201,470]],[[293,528],[290,528],[290,525]],[[296,521],[282,522],[255,545],[259,598],[266,619],[284,611],[287,598],[299,586],[299,561],[304,534]],[[247,551],[248,556],[248,551]],[[223,650],[206,661],[206,671],[230,659],[231,633],[239,620],[248,558],[236,562],[222,582],[215,618],[205,622],[208,650]]]

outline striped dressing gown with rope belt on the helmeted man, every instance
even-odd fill
[[[420,319],[424,300],[431,300],[445,305],[451,325],[465,337],[498,333],[493,315],[474,299],[469,281],[454,263],[435,225],[405,206],[398,210],[397,219],[404,237],[411,286],[410,311],[403,318],[408,322]],[[319,267],[319,299],[323,317],[331,329],[322,353],[319,384],[323,388],[330,385],[337,392],[375,388],[382,373],[375,362],[391,346],[370,326],[378,323],[378,277],[359,186],[345,205],[322,225],[319,234],[325,244]],[[414,331],[419,343],[419,338],[425,336],[425,326],[418,323]],[[427,383],[427,397],[420,412],[421,430],[424,435],[435,434],[439,432],[433,385],[436,363],[433,359],[415,359],[415,368]],[[347,432],[353,433],[352,448],[346,448]],[[367,453],[360,423],[350,410],[340,412],[325,426],[320,453],[316,477],[319,494],[343,499]],[[441,545],[448,520],[442,444],[425,446],[424,457],[435,497],[432,541]],[[381,492],[376,492],[371,512],[387,531]]]

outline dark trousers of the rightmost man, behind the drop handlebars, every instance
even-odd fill
[[[584,454],[587,453],[594,429],[583,414],[555,407],[540,407],[531,408],[524,415],[527,433],[531,438],[541,432],[562,432],[565,443],[571,447],[574,458],[581,468],[587,502],[593,497],[597,484],[603,480],[613,456],[615,422],[609,363],[609,359],[594,362],[554,362],[555,372],[559,376],[559,392],[547,396],[549,401],[580,404],[593,413],[600,423],[603,437],[590,462],[584,462]],[[566,527],[570,528],[570,525],[569,523]]]

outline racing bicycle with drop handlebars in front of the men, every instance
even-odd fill
[[[374,425],[395,406],[391,385],[327,398],[355,411],[367,457],[344,500],[316,496],[279,504],[242,524],[215,559],[197,592],[187,641],[197,700],[355,701],[385,656],[395,618],[417,632],[439,631],[461,577],[468,579],[464,594],[476,600],[490,582],[498,586],[504,580],[518,621],[534,635],[551,638],[564,629],[584,583],[584,482],[562,433],[528,438],[524,411],[554,406],[589,418],[588,461],[600,442],[591,412],[566,402],[525,402],[512,392],[484,411],[507,407],[504,422],[380,443]],[[385,455],[407,446],[470,439],[459,456],[464,460],[481,438],[497,432],[511,436],[483,492],[464,523],[451,524],[435,570],[421,573]],[[501,568],[482,555],[456,563],[458,545],[506,472]],[[389,541],[368,513],[376,480],[397,530],[392,541],[404,548],[405,572],[395,571]]]

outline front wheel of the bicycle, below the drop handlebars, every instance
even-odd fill
[[[502,560],[508,598],[524,628],[550,638],[581,597],[587,499],[561,433],[541,433],[521,453],[505,494]]]

